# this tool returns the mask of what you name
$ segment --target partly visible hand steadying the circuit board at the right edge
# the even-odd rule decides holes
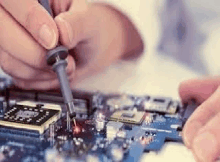
[[[220,150],[220,78],[185,81],[179,93],[183,103],[196,99],[201,105],[186,122],[183,139],[197,161],[214,162]]]

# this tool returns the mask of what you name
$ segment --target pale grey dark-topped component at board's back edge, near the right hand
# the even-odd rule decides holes
[[[150,99],[144,100],[143,107],[144,110],[150,112],[175,114],[178,104],[168,97],[151,97]]]

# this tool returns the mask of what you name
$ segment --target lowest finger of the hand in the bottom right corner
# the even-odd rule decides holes
[[[213,162],[219,157],[220,150],[220,112],[203,126],[193,140],[195,156],[204,162]]]

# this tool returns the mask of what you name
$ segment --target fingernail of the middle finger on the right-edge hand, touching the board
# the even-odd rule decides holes
[[[191,147],[192,141],[201,127],[202,124],[196,121],[192,123],[187,123],[185,125],[185,128],[183,130],[183,140],[188,148]]]

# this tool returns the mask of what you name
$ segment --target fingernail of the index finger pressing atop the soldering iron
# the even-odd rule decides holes
[[[55,46],[56,34],[53,29],[50,29],[48,25],[44,24],[39,31],[40,39],[43,45],[50,49]]]

